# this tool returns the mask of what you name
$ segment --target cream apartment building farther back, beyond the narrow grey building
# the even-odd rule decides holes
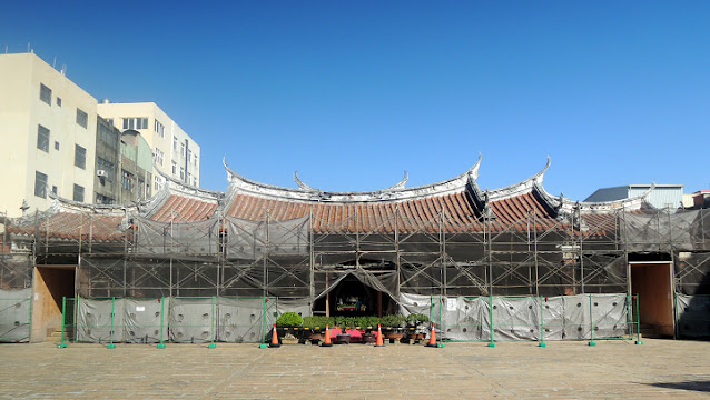
[[[140,132],[155,157],[154,193],[165,183],[156,169],[174,179],[199,187],[199,146],[154,102],[98,104],[98,114],[121,131]]]

